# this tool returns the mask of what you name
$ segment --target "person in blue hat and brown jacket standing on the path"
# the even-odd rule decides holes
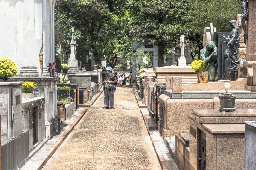
[[[116,91],[116,75],[113,73],[112,67],[107,67],[106,69],[106,77],[103,81],[104,83],[104,104],[105,107],[103,109],[114,109],[114,94]]]

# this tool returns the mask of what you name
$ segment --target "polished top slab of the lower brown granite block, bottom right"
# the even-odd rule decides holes
[[[202,124],[212,134],[244,133],[244,124]]]

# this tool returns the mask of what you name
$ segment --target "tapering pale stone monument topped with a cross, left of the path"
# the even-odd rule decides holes
[[[69,70],[79,70],[78,60],[76,60],[76,40],[74,37],[74,27],[72,27],[72,40],[70,42],[70,56],[68,60]]]

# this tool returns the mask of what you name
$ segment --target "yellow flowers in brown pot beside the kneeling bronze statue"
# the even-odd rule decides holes
[[[206,71],[208,66],[209,64],[205,67],[205,60],[202,61],[198,58],[191,63],[191,70],[195,70],[197,73],[198,83],[208,82],[208,71]]]

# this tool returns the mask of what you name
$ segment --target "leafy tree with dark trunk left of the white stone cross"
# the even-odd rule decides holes
[[[131,0],[127,2],[131,19],[127,33],[134,40],[158,46],[158,66],[164,64],[165,47],[181,34],[192,33],[187,25],[192,19],[188,0]]]

